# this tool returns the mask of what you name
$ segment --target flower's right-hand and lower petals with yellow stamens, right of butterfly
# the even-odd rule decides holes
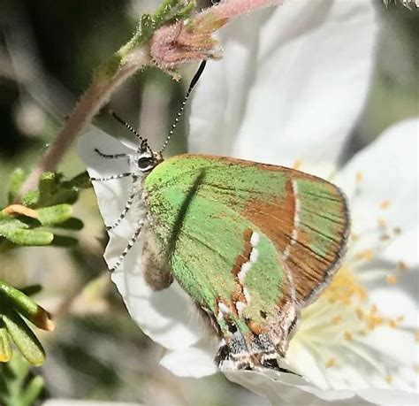
[[[418,129],[417,119],[393,126],[339,171],[353,241],[331,285],[302,311],[286,356],[307,381],[255,372],[229,379],[274,404],[322,404],[307,392],[351,404],[416,404]]]

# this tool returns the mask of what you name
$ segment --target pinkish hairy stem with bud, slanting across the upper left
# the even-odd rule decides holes
[[[141,67],[154,62],[164,70],[173,72],[179,64],[187,61],[217,58],[217,42],[211,35],[218,28],[241,14],[282,2],[225,0],[195,14],[188,24],[182,24],[182,21],[190,17],[194,7],[192,2],[164,0],[154,16],[143,15],[141,29],[94,76],[92,85],[81,96],[63,131],[22,186],[20,196],[37,188],[42,172],[56,170],[81,130],[108,102],[110,95]]]

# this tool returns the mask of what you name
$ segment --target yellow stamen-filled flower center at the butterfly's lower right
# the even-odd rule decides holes
[[[377,327],[396,328],[402,321],[402,316],[382,315],[377,305],[369,302],[368,290],[362,286],[354,269],[344,264],[316,302],[301,310],[301,328],[290,342],[288,359],[294,364],[293,360],[303,348],[309,350],[324,377],[326,371],[337,369],[338,372],[348,362],[354,362],[354,356],[369,363],[371,354],[367,355],[360,343]],[[300,362],[295,366],[309,380],[315,380],[307,374],[306,368],[301,370]],[[385,369],[378,369],[382,378],[391,383],[392,376]],[[319,387],[335,386],[329,380],[313,383]]]

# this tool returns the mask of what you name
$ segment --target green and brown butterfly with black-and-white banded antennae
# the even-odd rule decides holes
[[[344,257],[345,195],[326,180],[277,165],[194,154],[164,159],[174,126],[154,151],[116,117],[141,144],[117,154],[95,148],[128,170],[92,180],[133,182],[125,209],[108,228],[118,229],[130,210],[137,224],[110,271],[141,243],[144,280],[156,291],[179,283],[218,337],[221,370],[284,371],[280,360],[301,309],[316,300]]]

